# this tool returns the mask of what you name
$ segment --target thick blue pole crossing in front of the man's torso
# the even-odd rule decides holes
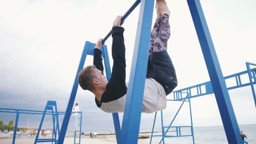
[[[141,0],[131,74],[121,129],[121,144],[138,143],[153,10],[154,0]]]

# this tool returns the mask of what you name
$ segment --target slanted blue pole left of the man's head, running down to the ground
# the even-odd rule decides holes
[[[86,42],[85,47],[83,49],[81,59],[80,59],[80,63],[79,63],[79,66],[78,66],[78,69],[77,69],[77,72],[76,72],[76,75],[75,75],[75,82],[73,84],[72,92],[71,92],[71,95],[70,95],[70,98],[69,98],[69,103],[68,103],[67,108],[66,108],[66,113],[64,115],[62,125],[61,125],[61,128],[60,128],[58,144],[63,144],[65,136],[66,136],[67,128],[68,128],[68,125],[69,125],[69,119],[70,119],[70,115],[71,115],[71,112],[72,112],[72,106],[74,104],[75,95],[76,95],[77,88],[78,88],[78,74],[84,67],[85,58],[86,58],[89,46],[90,46],[90,42]]]

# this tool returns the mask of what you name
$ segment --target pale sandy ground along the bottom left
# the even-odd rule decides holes
[[[0,144],[12,144],[12,139],[6,138],[6,139],[0,139]],[[34,139],[31,138],[17,138],[15,140],[15,144],[33,144]],[[139,139],[138,144],[148,144],[148,141]],[[44,144],[51,144],[46,143]],[[64,144],[74,144],[74,138],[67,137],[64,140]],[[116,144],[115,138],[81,138],[81,144]]]

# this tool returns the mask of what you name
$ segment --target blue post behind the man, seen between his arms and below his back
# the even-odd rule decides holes
[[[110,62],[109,62],[109,57],[108,57],[108,49],[107,46],[103,46],[103,51],[104,51],[104,65],[105,65],[105,72],[106,72],[106,77],[109,81],[111,78],[111,68],[110,68]],[[119,142],[119,138],[121,135],[121,127],[120,127],[120,121],[118,117],[118,113],[112,113],[113,121],[114,121],[114,127],[115,127],[115,137],[117,143]]]

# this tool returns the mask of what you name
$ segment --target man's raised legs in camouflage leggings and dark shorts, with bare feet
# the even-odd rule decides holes
[[[169,15],[170,11],[164,0],[159,0],[159,8],[162,14],[160,31],[154,40],[150,65],[152,70],[148,72],[147,78],[153,78],[159,82],[165,90],[166,95],[170,94],[177,86],[177,77],[171,58],[167,53],[167,41],[170,37]]]

